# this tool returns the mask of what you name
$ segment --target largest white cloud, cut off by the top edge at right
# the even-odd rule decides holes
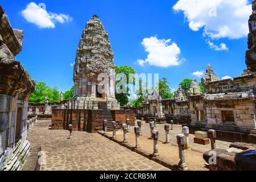
[[[182,11],[189,22],[189,28],[212,39],[239,39],[247,36],[247,20],[251,5],[247,0],[179,0],[173,7]]]

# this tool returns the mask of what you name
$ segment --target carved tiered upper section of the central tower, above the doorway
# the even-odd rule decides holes
[[[85,69],[84,69],[85,68]],[[114,53],[110,45],[108,32],[101,20],[94,15],[86,24],[77,48],[74,66],[74,81],[86,73],[89,80],[94,80],[98,74],[114,69]]]

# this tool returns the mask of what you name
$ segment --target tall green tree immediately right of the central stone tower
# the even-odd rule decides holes
[[[126,84],[126,89],[127,89],[127,92],[126,93],[116,93],[115,94],[115,98],[117,99],[117,101],[120,103],[121,106],[125,106],[127,105],[127,103],[129,102],[129,96],[130,96],[130,93],[129,93],[129,84],[135,84],[135,82],[129,82],[129,74],[135,74],[135,70],[132,68],[132,67],[127,67],[127,66],[121,66],[121,67],[118,67],[116,66],[115,67],[115,73],[117,74],[125,74],[126,75],[126,78],[127,78],[127,84]],[[119,78],[115,81],[115,84],[118,84],[119,82],[121,82],[122,80]],[[117,90],[118,89],[122,89],[122,88],[116,88]]]

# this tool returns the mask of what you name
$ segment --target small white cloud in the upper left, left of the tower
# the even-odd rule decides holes
[[[28,3],[22,11],[22,16],[27,22],[36,24],[39,28],[55,28],[55,23],[66,23],[72,21],[69,15],[56,14],[42,9],[35,2]]]

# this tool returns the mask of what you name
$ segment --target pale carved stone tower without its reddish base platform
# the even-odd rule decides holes
[[[99,109],[106,102],[108,109],[119,109],[115,100],[114,53],[98,16],[86,24],[77,48],[73,80],[76,84],[75,109]]]

